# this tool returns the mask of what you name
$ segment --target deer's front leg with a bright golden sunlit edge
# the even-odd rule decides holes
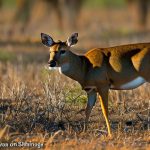
[[[108,89],[105,89],[105,90],[103,89],[99,91],[99,99],[100,99],[100,105],[102,108],[102,113],[106,121],[108,135],[111,137],[110,123],[108,120]]]

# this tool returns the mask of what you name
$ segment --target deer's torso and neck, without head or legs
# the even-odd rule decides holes
[[[145,46],[150,47],[150,44],[124,45],[105,49],[97,48],[87,52],[84,56],[79,56],[69,51],[71,60],[60,66],[61,72],[78,81],[83,88],[103,86],[104,84],[110,86],[110,89],[133,89],[146,82],[148,78],[143,75],[143,70],[140,71],[140,68],[144,67],[140,64],[145,60],[144,57],[148,55],[150,60],[150,49],[144,48]],[[101,58],[103,61],[100,60],[101,64],[94,62],[96,58],[94,58],[95,54],[93,53],[96,51],[97,55],[103,56]],[[150,67],[145,68],[145,71],[149,74]],[[130,83],[132,84],[130,85]],[[127,84],[128,86],[125,86]]]

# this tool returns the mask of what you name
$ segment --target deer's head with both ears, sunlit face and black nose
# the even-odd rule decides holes
[[[55,42],[53,38],[45,33],[41,33],[42,43],[49,47],[49,67],[60,67],[69,62],[70,47],[78,42],[78,33],[73,33],[65,42]]]

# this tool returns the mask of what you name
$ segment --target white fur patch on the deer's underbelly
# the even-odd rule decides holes
[[[123,85],[121,85],[119,87],[119,89],[122,89],[122,90],[128,90],[128,89],[134,89],[140,85],[142,85],[143,83],[145,83],[145,79],[142,78],[142,77],[137,77],[135,78],[134,80],[130,81],[130,82],[127,82]],[[111,88],[115,88],[113,85],[111,86]]]

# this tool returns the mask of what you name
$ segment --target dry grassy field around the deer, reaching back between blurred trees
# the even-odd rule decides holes
[[[5,1],[5,6],[14,7],[14,1]],[[123,0],[88,0],[78,19],[79,43],[74,52],[150,42],[150,21],[147,30],[138,32],[136,18],[123,6]],[[17,23],[10,37],[13,12],[7,8],[0,13],[0,149],[149,150],[150,85],[110,91],[112,138],[107,136],[99,100],[83,132],[87,95],[77,82],[47,69],[49,52],[39,43],[41,32],[66,40],[74,31],[58,30],[51,11],[37,21],[35,10],[25,32],[19,32]]]

